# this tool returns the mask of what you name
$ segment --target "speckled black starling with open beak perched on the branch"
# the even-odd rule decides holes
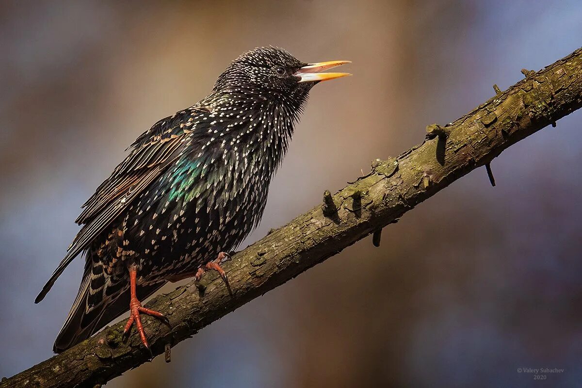
[[[135,325],[149,349],[141,315],[168,321],[141,301],[167,282],[217,270],[230,291],[221,265],[260,222],[311,88],[351,75],[325,72],[346,63],[305,63],[282,48],[252,49],[230,63],[207,97],[137,137],[81,207],[81,229],[35,300],[84,255],[54,352],[128,309],[124,334]]]

